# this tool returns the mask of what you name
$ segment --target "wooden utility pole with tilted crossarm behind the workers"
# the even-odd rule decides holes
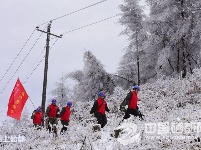
[[[46,39],[46,54],[45,54],[45,68],[44,68],[44,79],[43,79],[43,92],[42,92],[42,111],[43,111],[43,118],[45,114],[45,103],[46,103],[46,88],[47,88],[47,72],[48,72],[48,57],[49,57],[49,42],[50,42],[50,35],[55,36],[57,38],[62,38],[62,35],[58,36],[55,34],[50,33],[50,28],[51,28],[51,21],[48,24],[47,27],[47,32],[40,30],[39,27],[36,27],[36,29],[40,32],[46,33],[47,34],[47,39]],[[44,122],[43,122],[44,125]]]

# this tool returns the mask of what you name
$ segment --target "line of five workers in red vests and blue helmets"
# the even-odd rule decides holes
[[[127,110],[125,111],[125,115],[123,119],[128,119],[130,115],[139,116],[142,119],[142,114],[138,111],[138,92],[140,91],[140,87],[135,85],[133,89],[127,94],[125,98],[126,105],[128,105]],[[107,124],[106,111],[109,112],[109,108],[107,106],[107,102],[105,100],[105,93],[103,91],[99,92],[98,99],[94,102],[93,107],[90,110],[90,114],[94,114],[97,118],[98,124],[100,124],[101,128],[103,128]],[[72,102],[68,101],[66,106],[62,108],[60,111],[59,107],[56,105],[56,99],[52,99],[52,103],[47,107],[45,112],[45,125],[46,129],[51,132],[56,128],[58,124],[58,118],[60,118],[61,124],[63,127],[61,128],[60,134],[63,134],[67,131],[67,126],[70,121],[70,114]],[[42,126],[43,122],[43,112],[41,107],[39,106],[32,113],[33,124],[34,126]]]

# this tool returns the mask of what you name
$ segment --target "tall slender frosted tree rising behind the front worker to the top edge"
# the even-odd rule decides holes
[[[147,38],[144,26],[146,17],[142,7],[139,5],[140,0],[124,0],[124,2],[123,5],[119,6],[122,11],[122,17],[119,22],[126,27],[121,34],[128,36],[129,46],[120,63],[118,73],[124,77],[132,77],[132,80],[139,84],[140,72],[142,71],[140,64],[141,55],[143,54],[142,47]]]

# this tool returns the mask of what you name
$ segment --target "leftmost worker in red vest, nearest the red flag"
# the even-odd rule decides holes
[[[41,111],[41,107],[39,106],[34,112],[32,113],[31,119],[33,119],[33,124],[35,127],[42,125],[42,117],[43,112]]]

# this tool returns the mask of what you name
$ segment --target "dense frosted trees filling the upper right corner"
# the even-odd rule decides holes
[[[148,23],[149,47],[157,56],[156,72],[165,75],[187,72],[200,66],[199,0],[147,0],[150,6]]]

